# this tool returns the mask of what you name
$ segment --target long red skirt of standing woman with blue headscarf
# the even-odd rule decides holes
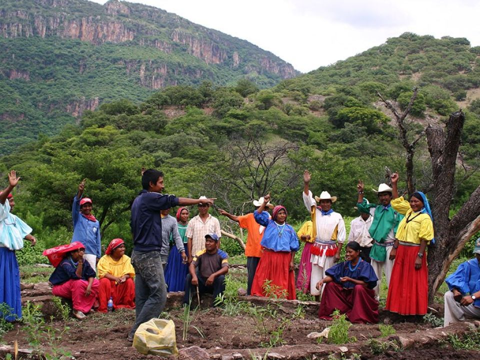
[[[401,315],[424,315],[428,304],[428,268],[423,252],[421,267],[415,269],[419,246],[398,245],[391,270],[385,309]]]

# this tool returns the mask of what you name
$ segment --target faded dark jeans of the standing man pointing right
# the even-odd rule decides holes
[[[166,302],[160,251],[133,250],[131,264],[135,269],[135,324],[129,337],[133,337],[141,323],[158,317]]]

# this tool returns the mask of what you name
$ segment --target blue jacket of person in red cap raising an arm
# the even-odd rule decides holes
[[[85,245],[85,253],[101,257],[100,223],[90,221],[80,213],[80,199],[73,197],[71,218],[73,220],[73,237],[70,242],[80,241]]]

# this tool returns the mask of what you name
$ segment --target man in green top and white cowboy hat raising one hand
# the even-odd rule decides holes
[[[398,223],[403,215],[396,212],[390,205],[392,199],[392,188],[386,183],[378,185],[378,189],[372,189],[378,196],[379,205],[367,204],[363,198],[364,185],[362,180],[358,180],[356,185],[358,192],[357,204],[359,211],[369,211],[372,221],[368,233],[372,238],[370,248],[370,264],[378,277],[375,291],[375,297],[378,300],[381,283],[381,273],[385,273],[386,286],[390,284],[390,275],[393,268],[394,256],[390,256],[391,250],[395,247],[395,233]]]

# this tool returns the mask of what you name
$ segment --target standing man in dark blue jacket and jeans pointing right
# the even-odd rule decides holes
[[[133,340],[138,326],[158,317],[166,302],[166,285],[161,266],[161,217],[160,210],[177,205],[212,204],[210,199],[191,199],[163,195],[163,173],[155,169],[145,170],[141,176],[143,190],[131,205],[131,232],[133,251],[131,264],[135,268],[135,324],[128,334]]]

